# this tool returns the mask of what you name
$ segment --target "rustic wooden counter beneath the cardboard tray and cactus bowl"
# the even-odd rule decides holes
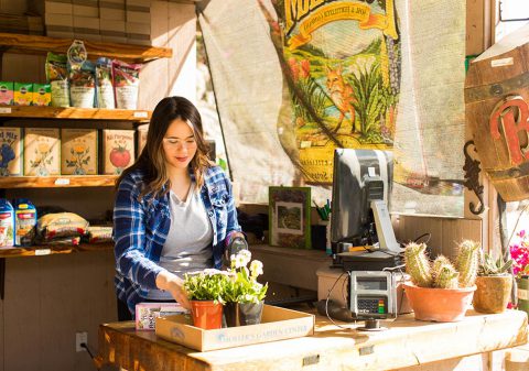
[[[359,332],[358,325],[316,316],[315,335],[255,346],[198,352],[136,331],[133,323],[99,328],[99,360],[128,370],[395,370],[442,362],[527,343],[527,315],[468,310],[461,323],[423,323],[412,315],[385,324],[389,330]],[[431,363],[435,365],[436,363]],[[444,369],[447,370],[447,369]]]

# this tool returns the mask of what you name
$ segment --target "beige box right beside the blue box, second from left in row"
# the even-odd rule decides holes
[[[26,128],[24,133],[24,175],[48,176],[61,174],[58,129]]]

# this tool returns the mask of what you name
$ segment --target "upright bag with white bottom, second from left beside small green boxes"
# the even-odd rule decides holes
[[[96,67],[90,61],[78,66],[68,64],[69,101],[73,107],[94,108],[96,97]]]

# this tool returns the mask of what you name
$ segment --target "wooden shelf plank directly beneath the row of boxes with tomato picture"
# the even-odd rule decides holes
[[[114,187],[117,175],[4,176],[0,188]]]

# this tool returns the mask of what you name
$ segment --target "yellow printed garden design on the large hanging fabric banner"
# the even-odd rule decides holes
[[[261,6],[284,78],[278,130],[306,182],[333,181],[336,148],[390,150],[400,90],[393,0]],[[287,99],[284,99],[287,98]]]

